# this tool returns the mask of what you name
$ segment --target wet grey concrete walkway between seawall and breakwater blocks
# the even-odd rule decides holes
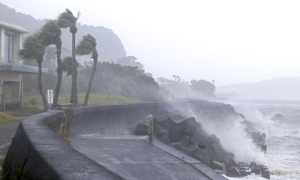
[[[181,152],[179,157],[167,153],[145,136],[81,135],[71,140],[71,146],[124,179],[212,179],[194,167],[203,166],[202,162],[189,163]]]

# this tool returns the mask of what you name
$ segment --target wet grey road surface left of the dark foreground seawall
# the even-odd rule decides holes
[[[2,163],[21,120],[0,122],[0,179]]]

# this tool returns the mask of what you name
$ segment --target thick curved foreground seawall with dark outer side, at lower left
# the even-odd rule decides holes
[[[3,164],[3,179],[123,179],[53,133],[48,126],[57,129],[63,117],[63,111],[51,111],[20,123]]]

